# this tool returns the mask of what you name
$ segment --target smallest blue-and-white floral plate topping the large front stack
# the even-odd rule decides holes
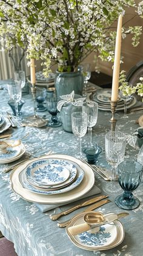
[[[40,164],[32,170],[32,179],[40,185],[56,185],[66,181],[70,176],[68,169],[59,164]]]

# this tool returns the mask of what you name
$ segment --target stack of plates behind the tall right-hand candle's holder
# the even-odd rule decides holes
[[[103,111],[110,111],[110,97],[111,97],[111,89],[99,89],[93,94],[93,100],[98,103],[98,108]],[[131,97],[130,100],[127,101],[127,109],[131,108],[136,104],[136,97]],[[124,110],[124,99],[120,97],[118,100],[118,104],[116,106],[116,110]]]

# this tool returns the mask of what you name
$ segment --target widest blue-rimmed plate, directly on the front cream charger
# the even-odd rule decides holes
[[[57,159],[55,159],[55,160],[57,160]],[[62,159],[62,161],[63,160],[64,159]],[[45,161],[45,159],[44,159],[44,161]],[[68,162],[68,161],[66,160],[66,162]],[[84,178],[84,170],[82,170],[82,168],[79,167],[79,165],[77,165],[71,161],[70,161],[70,163],[75,165],[75,167],[77,169],[77,176],[76,176],[76,179],[71,184],[69,184],[67,187],[59,188],[56,190],[46,190],[46,189],[44,190],[44,189],[40,189],[38,187],[37,188],[33,187],[33,185],[31,185],[27,182],[25,170],[22,170],[19,173],[19,182],[21,183],[21,185],[24,189],[27,189],[33,193],[38,193],[38,194],[42,194],[42,195],[56,195],[56,194],[68,192],[68,191],[73,190],[76,187],[78,187],[78,185],[81,183],[82,179]]]

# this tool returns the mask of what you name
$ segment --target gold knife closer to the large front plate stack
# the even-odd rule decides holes
[[[53,220],[53,221],[55,221],[55,220],[57,220],[59,217],[61,217],[62,215],[67,215],[68,213],[73,212],[73,211],[76,210],[76,209],[79,209],[79,208],[84,207],[84,206],[88,206],[89,204],[93,204],[93,202],[98,202],[98,201],[100,201],[100,200],[102,200],[102,199],[104,199],[104,198],[107,198],[107,197],[108,197],[108,196],[104,196],[104,195],[102,195],[102,196],[96,196],[96,198],[92,198],[92,199],[89,199],[89,200],[87,200],[87,201],[85,201],[85,202],[82,202],[81,204],[78,204],[78,205],[76,205],[76,206],[73,206],[73,207],[71,207],[70,209],[65,210],[64,212],[60,212],[60,213],[57,213],[57,214],[51,214],[51,215],[50,215],[50,219]]]

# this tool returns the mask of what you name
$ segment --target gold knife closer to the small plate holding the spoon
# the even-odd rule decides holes
[[[110,199],[104,199],[100,202],[96,202],[95,204],[92,204],[90,207],[87,207],[83,212],[90,212],[91,210],[94,210],[100,206],[103,206],[104,204],[107,204],[108,202],[111,202]],[[71,219],[70,219],[71,220]],[[59,222],[57,225],[58,227],[66,227],[67,224],[70,222],[70,220],[64,221],[64,222]]]

